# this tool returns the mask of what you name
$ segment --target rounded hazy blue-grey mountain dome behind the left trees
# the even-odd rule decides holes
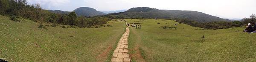
[[[74,10],[78,16],[98,16],[98,15],[105,15],[106,13],[96,11],[94,8],[89,7],[80,7]]]

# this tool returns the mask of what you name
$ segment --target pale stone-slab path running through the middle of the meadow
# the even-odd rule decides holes
[[[118,45],[113,53],[113,58],[111,62],[130,62],[129,54],[128,54],[128,36],[129,36],[129,28],[126,27],[126,32],[120,38]]]

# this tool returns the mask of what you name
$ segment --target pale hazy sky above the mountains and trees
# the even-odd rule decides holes
[[[256,0],[28,0],[50,10],[73,11],[90,7],[97,11],[116,11],[135,7],[199,11],[228,19],[242,19],[256,14]]]

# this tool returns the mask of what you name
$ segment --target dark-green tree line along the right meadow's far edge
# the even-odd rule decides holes
[[[172,19],[176,22],[189,24],[194,27],[201,27],[204,29],[226,29],[232,27],[245,27],[248,23],[256,23],[256,15],[252,14],[250,18],[244,18],[241,21],[218,21],[218,22],[196,22],[189,19]]]

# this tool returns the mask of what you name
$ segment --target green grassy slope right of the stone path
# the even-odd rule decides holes
[[[166,24],[161,20],[157,20],[161,24],[148,19],[144,22],[140,19],[126,20],[142,23],[142,29],[130,28],[129,49],[131,51],[129,53],[135,54],[136,51],[133,49],[141,48],[142,57],[147,62],[256,61],[256,34],[242,32],[241,27],[194,30],[201,28],[171,20],[168,20],[171,24]],[[174,26],[173,24],[178,24],[177,30],[159,28],[160,26]],[[203,35],[204,39],[201,38]],[[136,61],[136,58],[133,57],[132,60]]]

